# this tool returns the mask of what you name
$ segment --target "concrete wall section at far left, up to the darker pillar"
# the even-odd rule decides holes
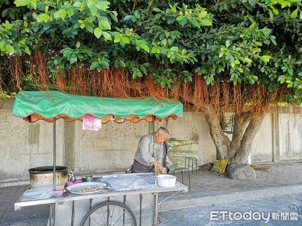
[[[13,100],[0,102],[0,186],[29,179],[28,170],[53,165],[52,124],[29,124],[12,115]],[[57,165],[63,165],[63,121],[57,125]]]

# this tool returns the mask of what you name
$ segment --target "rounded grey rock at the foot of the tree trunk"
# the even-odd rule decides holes
[[[256,179],[256,172],[252,167],[243,165],[229,165],[226,175],[234,180]]]

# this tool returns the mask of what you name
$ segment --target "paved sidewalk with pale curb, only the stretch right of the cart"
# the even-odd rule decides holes
[[[213,174],[207,169],[190,174],[191,192],[179,193],[159,206],[159,211],[181,209],[205,204],[236,201],[272,195],[302,193],[302,163],[274,164],[268,170],[256,170],[253,180],[232,180],[224,175]],[[176,174],[181,182],[181,174]],[[188,174],[184,174],[188,186]],[[172,192],[160,193],[159,203]]]

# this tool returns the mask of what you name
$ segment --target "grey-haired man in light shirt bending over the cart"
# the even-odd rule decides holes
[[[154,172],[154,166],[157,166],[157,175],[167,174],[165,168],[165,156],[163,143],[167,140],[169,131],[161,127],[155,133],[155,145],[153,133],[143,136],[138,143],[138,148],[134,156],[132,173]],[[156,161],[154,159],[154,148],[157,152]]]

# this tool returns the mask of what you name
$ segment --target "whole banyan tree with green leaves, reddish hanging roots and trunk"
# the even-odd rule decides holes
[[[247,165],[264,115],[302,103],[302,3],[0,0],[0,91],[174,98]],[[232,140],[223,133],[233,112]]]

